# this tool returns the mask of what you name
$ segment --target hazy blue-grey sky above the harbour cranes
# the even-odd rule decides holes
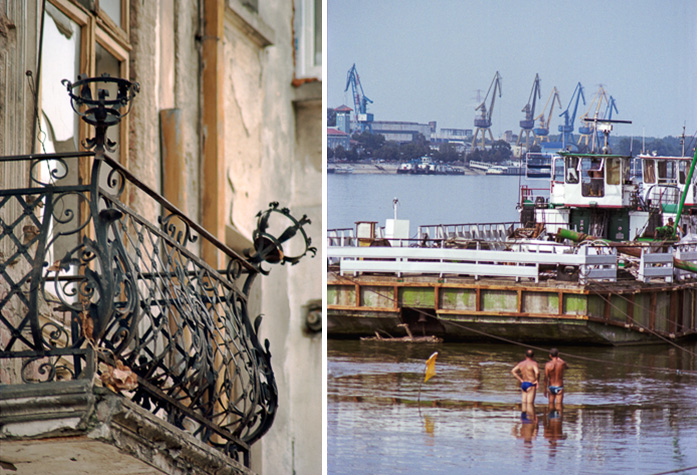
[[[327,0],[328,107],[353,108],[344,91],[355,63],[375,120],[474,128],[496,71],[491,131],[520,131],[535,74],[542,98],[556,86],[557,133],[580,82],[586,106],[600,84],[618,112],[615,135],[697,132],[697,0]],[[491,97],[487,100],[487,106]],[[573,105],[572,105],[573,108]]]

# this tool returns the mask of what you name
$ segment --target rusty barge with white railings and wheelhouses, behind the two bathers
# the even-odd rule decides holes
[[[697,336],[697,152],[640,155],[637,179],[632,157],[608,147],[626,121],[596,122],[604,145],[553,156],[548,187],[521,187],[519,223],[420,226],[412,240],[394,232],[405,229],[396,216],[382,232],[358,223],[372,234],[358,239],[329,231],[328,336],[400,336],[403,325],[445,341]]]

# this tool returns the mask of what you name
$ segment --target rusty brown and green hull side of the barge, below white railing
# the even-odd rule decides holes
[[[623,345],[697,337],[697,283],[386,275],[327,278],[329,338],[434,335],[445,341]]]

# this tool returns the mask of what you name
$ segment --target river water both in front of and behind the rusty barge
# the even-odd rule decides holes
[[[516,176],[329,175],[327,227],[515,221]],[[545,187],[543,181],[531,181]],[[523,421],[510,374],[524,348],[329,340],[327,471],[697,474],[697,343],[560,347],[561,417],[540,391]],[[439,352],[437,374],[422,384]],[[547,360],[538,351],[540,364]],[[421,394],[419,395],[419,388]],[[418,400],[420,398],[420,404]],[[556,416],[556,415],[555,415]]]

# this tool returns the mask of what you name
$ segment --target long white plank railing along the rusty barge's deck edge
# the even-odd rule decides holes
[[[341,275],[350,272],[512,277],[539,282],[540,266],[572,266],[579,269],[581,283],[617,280],[617,251],[585,248],[580,254],[555,252],[492,251],[476,249],[328,247],[327,257],[339,261]]]

